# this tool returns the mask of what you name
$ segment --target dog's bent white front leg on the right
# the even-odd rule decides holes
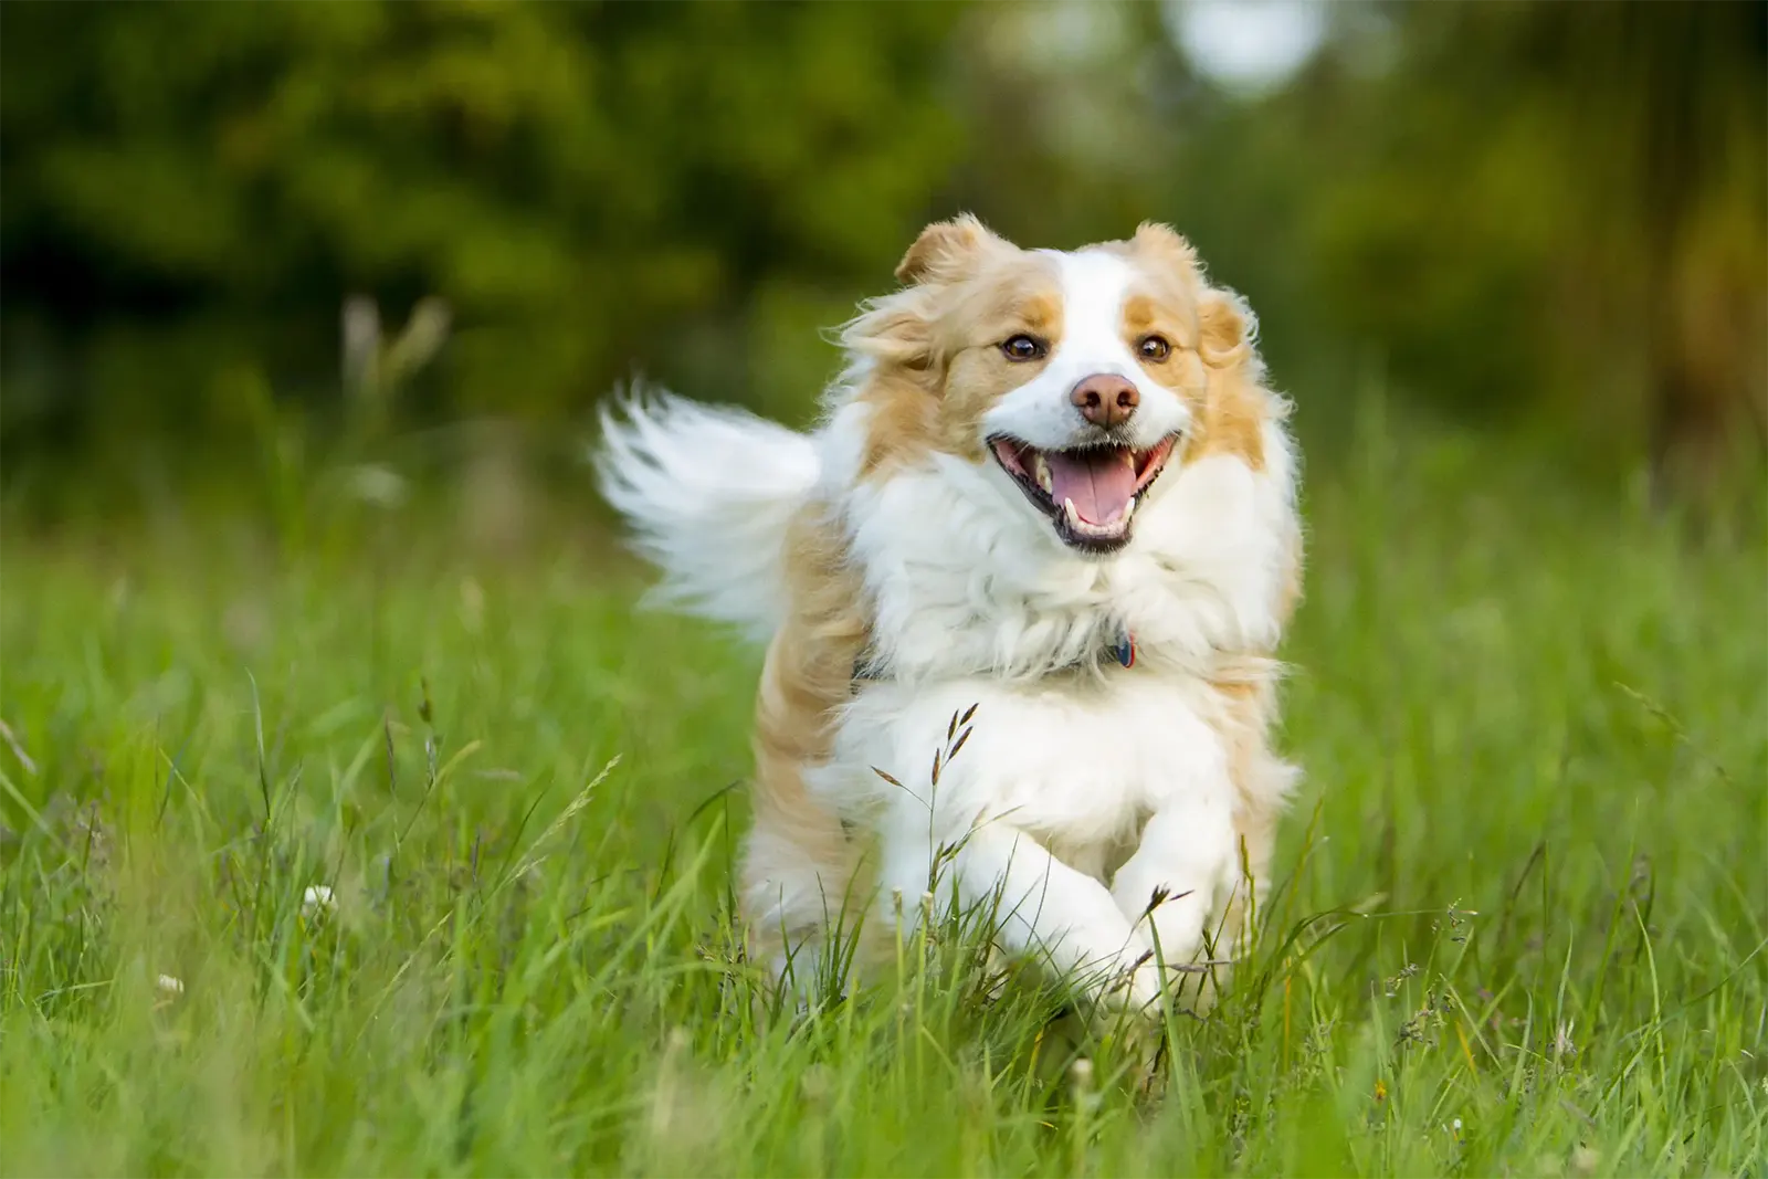
[[[1229,801],[1197,794],[1169,801],[1147,820],[1142,843],[1112,879],[1124,919],[1149,930],[1169,965],[1192,962],[1204,946],[1216,882],[1234,852]]]

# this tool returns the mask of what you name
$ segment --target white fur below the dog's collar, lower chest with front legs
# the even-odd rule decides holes
[[[1169,960],[1193,956],[1234,887],[1234,785],[1199,691],[1142,668],[872,682],[806,781],[877,834],[886,907],[955,886],[1010,946],[1132,979],[1147,1000],[1155,937]],[[946,755],[955,719],[969,737]]]

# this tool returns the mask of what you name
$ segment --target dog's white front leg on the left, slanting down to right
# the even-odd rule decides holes
[[[944,850],[926,845],[925,825],[919,840],[905,836],[886,845],[888,893],[907,901],[930,884],[935,894],[956,884],[965,914],[987,916],[1010,955],[1040,958],[1059,974],[1096,985],[1101,997],[1133,1006],[1158,997],[1158,979],[1146,969],[1151,946],[1110,891],[1025,831],[981,820]],[[935,871],[935,857],[949,866],[949,877]],[[919,916],[914,909],[911,919]]]

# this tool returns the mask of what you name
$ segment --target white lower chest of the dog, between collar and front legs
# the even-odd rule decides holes
[[[1231,806],[1227,755],[1200,693],[1140,668],[1031,684],[868,684],[842,719],[831,769],[872,795],[850,804],[919,810],[948,831],[999,820],[1050,845],[1103,848],[1133,840],[1176,795],[1218,794]]]

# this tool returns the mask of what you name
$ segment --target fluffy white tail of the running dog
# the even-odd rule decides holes
[[[771,636],[785,610],[785,536],[820,472],[815,444],[670,392],[622,398],[601,428],[601,493],[663,571],[656,599]]]

